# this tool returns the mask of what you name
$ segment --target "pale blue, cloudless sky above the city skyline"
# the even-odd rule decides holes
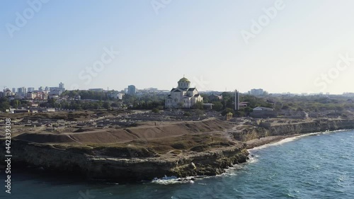
[[[352,0],[0,1],[0,88],[354,92]],[[353,57],[353,58],[352,58]]]

